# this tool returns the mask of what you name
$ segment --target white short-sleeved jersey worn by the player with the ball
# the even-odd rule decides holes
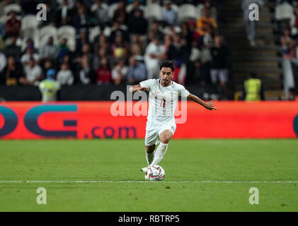
[[[149,90],[149,109],[147,121],[153,124],[175,124],[175,109],[178,96],[188,97],[189,92],[183,85],[171,81],[166,87],[160,79],[148,79],[139,83]]]

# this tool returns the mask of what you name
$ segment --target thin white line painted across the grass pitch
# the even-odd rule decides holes
[[[0,181],[0,184],[32,184],[32,183],[53,183],[53,184],[88,184],[88,183],[150,183],[149,181]],[[298,181],[272,181],[272,182],[229,182],[229,181],[161,181],[159,183],[222,183],[222,184],[297,184]]]

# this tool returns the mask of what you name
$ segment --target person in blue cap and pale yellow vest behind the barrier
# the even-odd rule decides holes
[[[38,87],[42,94],[42,102],[56,101],[59,99],[58,91],[60,90],[59,82],[55,81],[54,69],[47,70],[47,78],[40,81]]]

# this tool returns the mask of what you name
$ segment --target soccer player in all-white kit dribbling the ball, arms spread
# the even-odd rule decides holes
[[[206,109],[217,109],[212,101],[204,102],[199,97],[190,94],[183,85],[173,82],[174,70],[175,66],[171,61],[163,61],[159,67],[159,79],[148,79],[130,88],[132,93],[142,90],[149,91],[145,136],[148,166],[141,169],[145,174],[145,179],[148,179],[148,168],[152,165],[159,165],[163,159],[168,148],[168,142],[176,131],[174,113],[178,96],[187,97],[188,100],[193,100]],[[159,147],[155,150],[159,141]]]

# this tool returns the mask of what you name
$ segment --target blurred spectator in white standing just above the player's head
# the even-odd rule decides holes
[[[166,58],[166,49],[160,43],[159,37],[154,37],[146,48],[144,61],[147,67],[148,78],[158,78],[159,63]]]

